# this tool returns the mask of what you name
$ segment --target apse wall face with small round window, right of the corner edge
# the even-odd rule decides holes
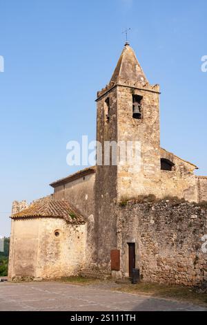
[[[78,274],[86,261],[85,227],[70,225],[63,219],[39,220],[37,277]]]

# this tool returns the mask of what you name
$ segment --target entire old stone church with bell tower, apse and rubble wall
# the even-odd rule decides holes
[[[159,85],[126,42],[97,93],[97,141],[138,142],[139,163],[97,164],[12,206],[10,279],[88,275],[192,286],[207,279],[207,177],[160,147]],[[205,247],[204,247],[205,246]]]

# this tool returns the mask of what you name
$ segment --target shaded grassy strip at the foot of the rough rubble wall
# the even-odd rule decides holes
[[[192,304],[207,306],[207,293],[197,293],[195,288],[184,286],[167,286],[165,284],[143,282],[140,284],[126,284],[117,288],[117,290],[124,293],[148,295],[151,297],[186,301]]]

